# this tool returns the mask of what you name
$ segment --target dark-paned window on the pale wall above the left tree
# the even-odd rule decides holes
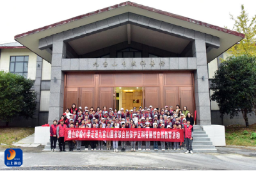
[[[28,56],[11,56],[10,72],[28,77]]]

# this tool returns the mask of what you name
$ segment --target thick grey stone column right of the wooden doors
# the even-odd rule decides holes
[[[196,33],[193,41],[193,57],[196,57],[197,69],[195,77],[196,124],[211,124],[211,107],[209,95],[209,82],[207,70],[207,54],[205,47],[205,34]]]

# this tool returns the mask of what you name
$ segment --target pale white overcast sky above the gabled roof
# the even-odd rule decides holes
[[[0,43],[14,41],[14,36],[39,27],[47,26],[61,20],[70,19],[91,11],[122,3],[125,0],[111,1],[78,1],[78,0],[44,0],[44,1],[1,1]],[[250,17],[256,14],[255,0],[133,0],[143,4],[168,11],[191,19],[200,20],[216,26],[228,26],[232,29],[234,22],[229,13],[237,16],[241,4]]]

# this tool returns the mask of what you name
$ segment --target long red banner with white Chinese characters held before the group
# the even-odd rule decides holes
[[[66,128],[68,140],[183,142],[184,130],[152,128]]]

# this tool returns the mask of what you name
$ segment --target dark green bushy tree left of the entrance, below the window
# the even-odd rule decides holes
[[[34,81],[20,75],[0,71],[0,120],[8,123],[14,117],[33,118],[36,94],[31,91]]]

